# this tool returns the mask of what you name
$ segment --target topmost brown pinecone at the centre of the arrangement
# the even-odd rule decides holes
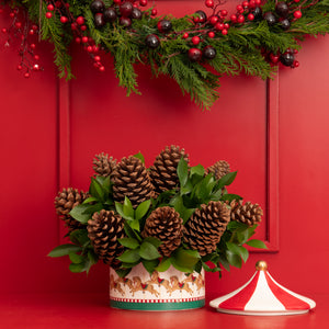
[[[189,162],[189,155],[185,150],[171,145],[167,146],[156,158],[154,166],[150,167],[150,178],[157,193],[172,190],[179,184],[177,167],[182,157]]]

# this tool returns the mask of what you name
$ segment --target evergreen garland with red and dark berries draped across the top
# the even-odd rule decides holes
[[[135,4],[137,1],[131,0]],[[104,67],[99,49],[114,57],[118,84],[126,89],[127,94],[139,93],[135,65],[143,64],[150,66],[154,76],[164,75],[175,80],[183,94],[189,93],[201,109],[206,110],[209,110],[219,97],[222,76],[246,73],[261,79],[273,78],[280,60],[286,66],[298,65],[294,60],[294,52],[300,48],[300,42],[306,35],[316,37],[329,32],[329,0],[281,1],[288,7],[287,29],[282,27],[284,16],[275,13],[275,7],[280,2],[277,0],[243,1],[240,9],[237,8],[236,15],[243,16],[242,21],[238,19],[238,22],[232,16],[223,14],[220,0],[205,1],[209,7],[209,16],[204,22],[201,11],[181,19],[172,15],[157,18],[154,8],[149,8],[141,11],[140,19],[132,19],[131,26],[121,24],[124,15],[121,14],[120,7],[128,0],[99,1],[104,3],[104,8],[113,8],[117,14],[113,22],[103,26],[95,22],[95,13],[91,10],[92,2],[94,1],[12,0],[2,1],[2,4],[10,5],[14,12],[9,31],[15,26],[16,15],[22,9],[23,12],[27,12],[30,19],[24,31],[32,24],[41,25],[37,33],[41,39],[54,44],[55,64],[60,78],[73,77],[68,48],[72,42],[80,42],[100,70],[104,70]],[[260,9],[261,15],[256,15],[256,8]],[[265,19],[268,12],[274,14],[276,23],[272,24]],[[212,15],[217,15],[219,23],[229,25],[225,33],[211,22]],[[66,21],[61,21],[63,16]],[[167,33],[158,27],[163,20],[172,25]],[[15,29],[23,31],[21,26]],[[25,35],[24,42],[27,43],[27,34]],[[146,37],[149,35],[152,35],[154,42],[157,43],[158,39],[158,46],[147,45]],[[200,37],[201,42],[193,44],[195,36]],[[204,54],[206,46],[215,50],[214,58],[203,56],[195,59],[196,57],[189,56],[191,48],[201,49]],[[31,61],[24,63],[27,53],[33,55],[29,47],[26,49],[26,45],[24,49],[20,53],[21,67],[25,66],[25,76],[29,77],[30,71],[37,70],[38,66],[32,66]],[[282,58],[285,54],[287,58]]]

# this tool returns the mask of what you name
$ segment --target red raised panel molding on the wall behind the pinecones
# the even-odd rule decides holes
[[[279,73],[266,81],[266,168],[265,168],[265,239],[268,249],[251,252],[279,251]],[[58,80],[58,188],[70,185],[70,83]],[[59,240],[66,234],[60,225]]]

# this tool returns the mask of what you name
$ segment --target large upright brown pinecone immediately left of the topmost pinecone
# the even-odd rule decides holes
[[[124,202],[127,196],[133,206],[154,196],[154,185],[145,164],[133,156],[123,158],[115,167],[112,174],[113,197]]]

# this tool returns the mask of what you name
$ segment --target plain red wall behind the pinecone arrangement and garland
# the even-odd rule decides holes
[[[161,1],[158,7],[180,14],[188,7],[190,12],[200,9],[200,3]],[[3,24],[0,16],[0,27]],[[226,159],[238,170],[231,191],[259,202],[268,214],[260,238],[266,239],[268,220],[276,220],[269,218],[271,207],[280,213],[279,252],[253,253],[242,270],[232,270],[222,281],[208,275],[208,296],[245,283],[259,259],[268,260],[271,274],[293,291],[328,293],[328,38],[307,39],[298,55],[300,67],[282,69],[272,84],[274,91],[279,88],[279,139],[270,140],[279,156],[277,185],[275,177],[266,177],[268,106],[273,100],[266,99],[264,81],[223,78],[220,99],[211,112],[201,112],[172,81],[151,79],[147,68],[138,68],[143,95],[126,98],[111,59],[105,73],[97,72],[79,48],[73,49],[78,79],[67,90],[56,79],[50,49],[42,52],[45,71],[31,79],[15,70],[14,49],[0,52],[0,292],[106,292],[104,265],[87,279],[70,273],[66,260],[46,257],[61,234],[54,196],[68,184],[87,190],[92,157],[100,151],[120,159],[140,150],[150,164],[166,145],[177,144],[185,147],[192,164]],[[277,204],[268,200],[273,184],[279,188]]]

